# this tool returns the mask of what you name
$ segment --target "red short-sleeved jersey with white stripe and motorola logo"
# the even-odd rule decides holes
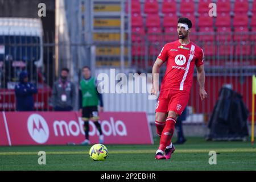
[[[164,45],[158,58],[163,62],[167,61],[161,90],[187,90],[190,92],[194,67],[204,64],[203,49],[192,42],[182,45],[179,40],[176,40]]]

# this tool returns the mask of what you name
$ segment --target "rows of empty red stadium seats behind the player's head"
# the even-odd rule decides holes
[[[155,56],[158,55],[164,43],[177,39],[176,23],[180,17],[188,17],[192,20],[191,40],[204,48],[205,56],[250,55],[253,51],[246,46],[246,41],[256,39],[253,34],[256,31],[254,16],[256,1],[141,0],[132,2],[132,8],[135,9],[132,12],[137,12],[132,14],[132,32],[145,36],[146,39],[143,41],[147,40],[150,43],[145,49],[148,50],[146,52],[148,55],[154,55],[154,52]],[[217,17],[208,15],[208,6],[211,2],[217,4]],[[141,13],[138,13],[138,9]],[[132,39],[136,42],[142,41],[134,35]]]

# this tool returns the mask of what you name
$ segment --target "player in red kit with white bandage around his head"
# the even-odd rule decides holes
[[[170,159],[175,151],[171,142],[177,117],[188,103],[193,81],[193,71],[197,67],[199,94],[203,101],[207,98],[204,89],[204,52],[189,40],[192,22],[188,18],[180,18],[177,22],[178,40],[167,43],[162,48],[152,68],[153,82],[151,94],[158,95],[159,68],[167,62],[166,73],[160,87],[156,106],[155,125],[160,137],[160,144],[155,159]]]

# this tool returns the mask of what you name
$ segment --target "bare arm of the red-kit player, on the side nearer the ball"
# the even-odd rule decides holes
[[[151,89],[151,94],[154,94],[155,96],[158,95],[159,92],[159,69],[162,66],[164,62],[157,58],[153,68],[152,68],[152,89]]]

